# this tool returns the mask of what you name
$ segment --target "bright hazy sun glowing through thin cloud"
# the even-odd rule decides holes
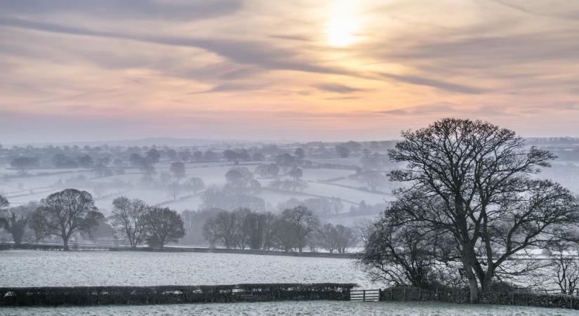
[[[326,22],[325,33],[328,44],[345,47],[357,41],[359,20],[354,14],[355,1],[336,1]]]

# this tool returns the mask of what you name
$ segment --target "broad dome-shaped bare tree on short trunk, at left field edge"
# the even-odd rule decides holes
[[[62,238],[65,250],[75,232],[90,234],[98,225],[102,213],[98,212],[93,196],[86,191],[66,189],[41,200],[30,220],[30,226],[40,235]]]

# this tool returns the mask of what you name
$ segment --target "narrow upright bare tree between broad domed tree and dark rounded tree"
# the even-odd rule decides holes
[[[145,215],[147,211],[149,211],[149,206],[140,199],[117,197],[112,200],[111,223],[121,231],[132,248],[140,244],[146,236]]]

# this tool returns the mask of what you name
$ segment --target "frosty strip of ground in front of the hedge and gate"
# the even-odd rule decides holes
[[[0,308],[0,315],[470,315],[566,316],[576,310],[430,302],[285,301],[182,305]]]

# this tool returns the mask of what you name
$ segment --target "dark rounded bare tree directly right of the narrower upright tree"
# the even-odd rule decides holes
[[[161,249],[168,242],[178,242],[185,236],[183,221],[176,211],[168,207],[153,207],[145,214],[147,223],[147,240],[149,244]]]

